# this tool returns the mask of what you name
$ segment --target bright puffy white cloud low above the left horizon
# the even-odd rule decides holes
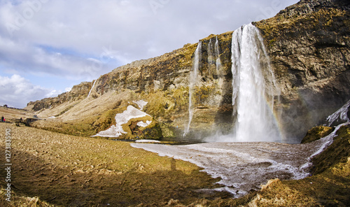
[[[13,75],[11,77],[0,76],[0,105],[7,104],[23,108],[29,101],[43,99],[44,97],[56,97],[62,92],[49,90],[30,83],[29,80]]]

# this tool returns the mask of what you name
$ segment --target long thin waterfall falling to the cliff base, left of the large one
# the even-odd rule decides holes
[[[195,110],[193,106],[193,90],[198,85],[198,82],[200,81],[200,60],[202,59],[202,42],[200,41],[197,45],[197,48],[195,50],[195,60],[193,62],[193,69],[190,72],[190,84],[189,84],[189,103],[188,103],[188,124],[185,129],[185,132],[183,133],[183,136],[186,136],[188,131],[190,131],[190,124],[192,122],[193,118],[193,112]]]

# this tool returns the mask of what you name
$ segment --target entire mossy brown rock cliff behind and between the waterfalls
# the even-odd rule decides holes
[[[309,128],[350,99],[349,7],[347,1],[300,1],[253,23],[264,37],[281,90],[274,112],[287,138],[300,141]],[[193,88],[190,125],[196,135],[232,130],[231,42],[232,32],[200,40],[200,80]],[[163,135],[181,136],[188,123],[197,44],[114,69],[96,80],[90,97],[92,83],[81,83],[59,97],[30,102],[27,108],[64,121],[96,116],[94,126],[106,110],[144,99],[144,110],[162,123]]]

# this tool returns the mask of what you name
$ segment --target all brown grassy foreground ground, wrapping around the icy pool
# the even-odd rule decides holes
[[[348,206],[350,128],[314,160],[303,180],[270,180],[241,199],[200,189],[218,187],[194,164],[132,148],[130,143],[0,123],[1,187],[10,129],[11,201],[0,206]]]

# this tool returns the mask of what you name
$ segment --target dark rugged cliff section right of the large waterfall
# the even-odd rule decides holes
[[[350,97],[349,1],[300,1],[256,22],[281,88],[281,122],[303,136]]]

